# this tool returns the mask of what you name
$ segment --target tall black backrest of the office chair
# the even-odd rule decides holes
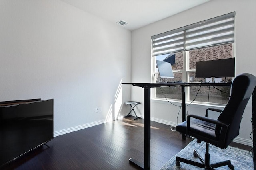
[[[255,86],[256,77],[252,74],[244,73],[234,78],[228,103],[218,117],[218,120],[229,124],[226,139],[221,139],[224,141],[224,148],[239,135],[242,115]],[[218,137],[220,135],[220,128],[216,127],[215,133],[216,137]]]

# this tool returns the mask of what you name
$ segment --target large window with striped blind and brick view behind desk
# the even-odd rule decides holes
[[[234,57],[234,16],[235,12],[232,12],[152,36],[153,82],[160,81],[155,60],[172,64],[175,78],[170,81],[196,82],[204,81],[195,78],[197,61]],[[186,92],[189,101],[196,98],[197,102],[226,104],[230,88],[192,86]],[[155,88],[153,97],[181,100],[181,89],[178,86]]]

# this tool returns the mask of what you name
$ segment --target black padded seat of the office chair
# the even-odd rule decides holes
[[[177,125],[176,131],[187,134],[187,121]],[[216,140],[215,125],[213,123],[190,117],[190,134],[187,135],[200,139],[204,139],[204,137],[206,137]]]

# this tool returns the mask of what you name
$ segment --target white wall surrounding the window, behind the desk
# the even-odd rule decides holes
[[[256,1],[255,0],[211,0],[200,6],[181,12],[164,20],[147,25],[132,31],[132,82],[151,82],[151,36],[198,21],[207,20],[216,16],[236,12],[235,16],[235,57],[236,75],[248,72],[256,75]],[[170,7],[171,8],[171,7]],[[142,102],[138,107],[143,115],[143,89],[132,87],[132,100]],[[190,114],[204,115],[206,106],[190,105],[187,110]],[[250,132],[252,124],[252,104],[249,101],[240,127],[240,135],[235,141],[252,145]],[[170,125],[176,125],[179,107],[168,102],[151,102],[152,120]],[[178,122],[181,121],[180,115]]]

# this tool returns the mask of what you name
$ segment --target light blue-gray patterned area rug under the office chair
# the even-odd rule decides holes
[[[191,143],[188,144],[184,149],[182,149],[178,154],[176,154],[172,159],[170,159],[161,170],[200,170],[203,168],[198,168],[189,164],[180,162],[180,167],[175,165],[176,156],[181,158],[186,158],[192,161],[200,162],[200,160],[193,156],[193,151],[196,149],[200,155],[204,158],[204,153],[206,150],[206,144],[197,143],[194,139]],[[231,164],[235,166],[235,170],[253,170],[253,158],[252,153],[249,151],[239,149],[236,147],[228,146],[226,149],[220,149],[213,145],[209,145],[210,153],[210,164],[222,162],[224,160],[230,160]],[[230,170],[228,166],[222,166],[216,168],[216,170]]]

